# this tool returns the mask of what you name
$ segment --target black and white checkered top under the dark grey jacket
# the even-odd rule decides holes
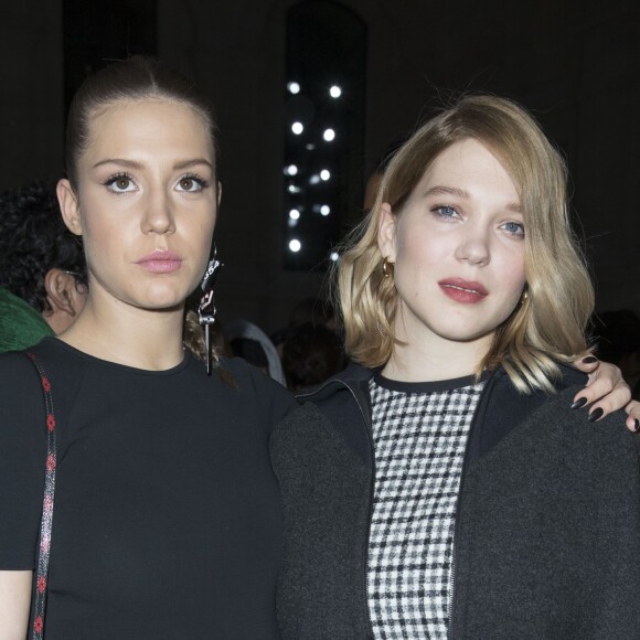
[[[483,383],[370,383],[375,490],[367,596],[377,640],[446,639],[456,503]]]

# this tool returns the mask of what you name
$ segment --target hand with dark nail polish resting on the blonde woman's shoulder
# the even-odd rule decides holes
[[[588,358],[583,359],[580,361],[582,364],[585,364],[584,360],[588,360]],[[594,363],[586,364],[593,365]],[[584,371],[583,366],[580,366],[580,370]],[[587,386],[574,396],[572,408],[577,409],[590,405],[588,408],[588,417],[589,420],[596,422],[609,415],[611,412],[621,409],[629,404],[630,399],[631,390],[622,380],[620,370],[608,362],[600,362],[599,366],[589,374]],[[638,416],[633,414],[633,417],[640,419],[640,407],[634,408],[634,410],[638,410]],[[632,423],[631,418],[629,418],[628,426],[630,423]]]

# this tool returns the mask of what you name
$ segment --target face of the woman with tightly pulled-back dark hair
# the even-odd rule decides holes
[[[92,118],[77,193],[58,184],[67,226],[83,235],[93,298],[180,307],[209,258],[217,209],[214,152],[192,107],[122,100]]]

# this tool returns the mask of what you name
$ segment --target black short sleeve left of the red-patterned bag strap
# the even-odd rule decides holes
[[[0,569],[33,569],[45,467],[44,395],[23,353],[0,355]]]

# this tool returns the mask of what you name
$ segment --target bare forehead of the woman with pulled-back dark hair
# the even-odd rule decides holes
[[[206,118],[191,105],[164,98],[122,99],[100,106],[88,118],[85,154],[118,158],[152,151],[205,156],[213,161]]]

